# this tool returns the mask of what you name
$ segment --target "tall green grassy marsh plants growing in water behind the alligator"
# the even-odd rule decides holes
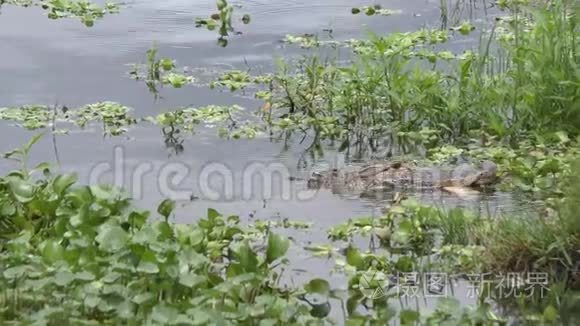
[[[475,51],[441,50],[449,39],[475,28],[464,22],[449,31],[371,34],[342,42],[340,47],[352,51],[347,63],[318,54],[280,60],[264,85],[266,128],[311,132],[316,140],[339,141],[341,148],[371,151],[395,138],[433,147],[554,131],[575,137],[580,42],[573,4],[509,2],[502,8],[508,16],[481,34]],[[303,48],[336,47],[316,36],[285,41]]]

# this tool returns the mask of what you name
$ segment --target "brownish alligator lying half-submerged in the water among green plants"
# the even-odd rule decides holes
[[[375,162],[358,168],[331,169],[313,172],[309,189],[331,189],[336,194],[374,196],[398,188],[459,192],[461,189],[481,189],[495,184],[497,165],[482,161],[479,166],[462,164],[456,167],[419,167],[403,162]]]

